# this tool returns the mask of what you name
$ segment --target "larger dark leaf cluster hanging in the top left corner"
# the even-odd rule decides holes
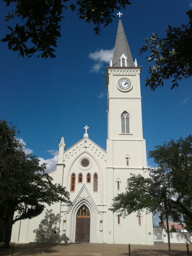
[[[14,51],[19,50],[19,56],[22,57],[24,55],[31,57],[38,51],[41,51],[38,56],[43,58],[56,57],[52,53],[54,51],[52,47],[57,47],[56,40],[61,36],[59,22],[63,18],[60,14],[63,9],[66,9],[66,6],[62,4],[65,1],[4,1],[7,5],[10,2],[17,3],[15,11],[5,16],[6,21],[16,16],[22,18],[24,25],[16,24],[15,29],[8,26],[12,33],[1,41],[8,41],[8,48]]]

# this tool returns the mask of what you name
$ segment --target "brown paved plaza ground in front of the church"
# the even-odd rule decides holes
[[[187,256],[185,243],[171,244],[172,256]],[[1,256],[11,256],[12,248],[0,248]],[[192,244],[189,244],[192,256]],[[29,243],[15,244],[14,256],[129,256],[127,244],[95,244],[95,243],[67,243],[46,244]],[[131,256],[167,256],[168,244],[155,242],[154,245],[131,245]]]

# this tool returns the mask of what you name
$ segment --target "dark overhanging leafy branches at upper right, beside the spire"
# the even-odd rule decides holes
[[[157,86],[163,87],[163,81],[173,77],[172,87],[178,87],[178,80],[188,78],[192,74],[192,10],[187,12],[189,23],[181,27],[168,26],[166,37],[159,38],[157,34],[145,39],[146,44],[140,49],[140,54],[150,50],[151,56],[147,57],[149,78],[145,86],[155,90]]]

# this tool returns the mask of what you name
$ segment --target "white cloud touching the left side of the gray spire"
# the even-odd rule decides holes
[[[110,62],[110,58],[113,57],[113,51],[114,49],[111,50],[104,50],[104,49],[97,49],[95,52],[90,52],[89,53],[89,58],[91,60],[94,60],[96,63],[92,65],[90,72],[103,72],[101,69],[104,67],[103,63],[108,63]]]

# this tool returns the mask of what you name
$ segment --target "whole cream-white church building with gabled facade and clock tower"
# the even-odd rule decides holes
[[[114,55],[106,67],[108,88],[108,137],[106,151],[88,136],[86,125],[83,138],[65,150],[64,138],[59,144],[57,168],[49,175],[70,193],[71,206],[55,203],[41,215],[17,221],[12,229],[12,242],[41,242],[48,232],[50,242],[56,233],[60,242],[90,242],[118,244],[153,244],[152,214],[133,212],[123,218],[108,209],[112,199],[125,191],[130,173],[142,174],[147,168],[146,145],[143,139],[140,72],[133,62],[119,18]],[[46,212],[59,216],[55,226],[45,230],[42,225]],[[44,223],[44,224],[43,224]],[[48,226],[48,224],[47,224]],[[55,228],[55,233],[52,228]],[[49,227],[47,227],[48,229]],[[43,231],[45,230],[45,231]]]

